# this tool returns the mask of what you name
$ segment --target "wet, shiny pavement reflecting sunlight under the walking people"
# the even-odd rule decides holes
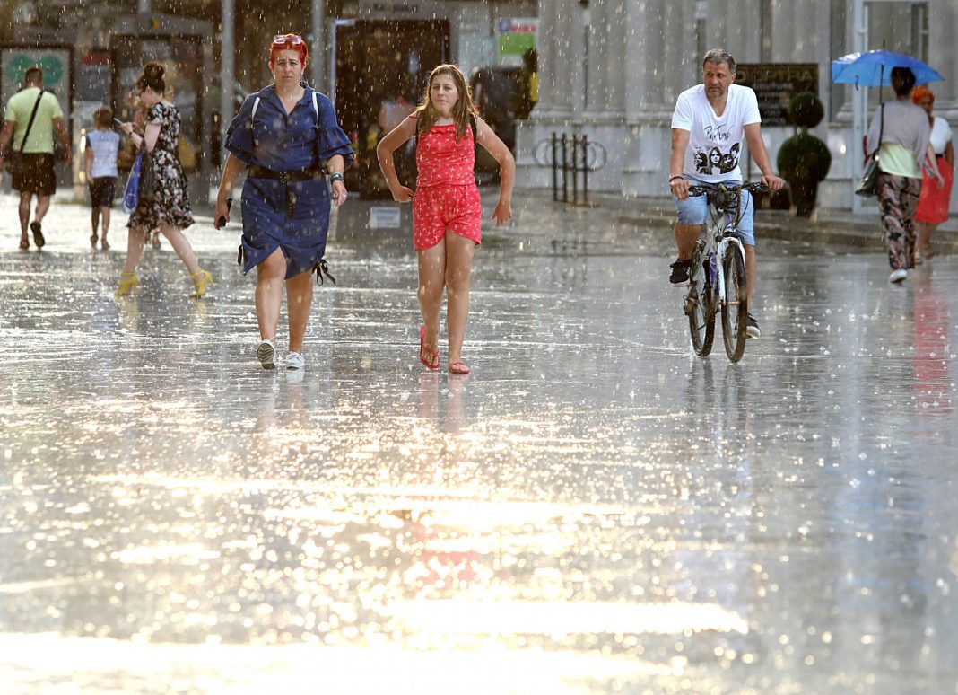
[[[114,298],[80,206],[4,224],[2,691],[958,692],[958,258],[763,243],[731,364],[668,228],[516,199],[468,377],[346,211],[305,374],[253,358],[236,224],[200,302],[166,243]]]

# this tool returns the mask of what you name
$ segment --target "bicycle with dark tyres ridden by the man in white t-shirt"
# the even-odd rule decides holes
[[[768,191],[761,183],[690,186],[690,196],[705,196],[711,223],[696,241],[689,268],[685,313],[689,317],[692,348],[706,357],[712,352],[716,314],[721,312],[722,337],[728,359],[737,362],[745,352],[748,286],[745,248],[738,235],[744,209],[742,191]]]

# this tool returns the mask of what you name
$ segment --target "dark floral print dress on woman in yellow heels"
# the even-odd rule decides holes
[[[181,124],[179,111],[172,104],[153,104],[147,112],[147,123],[160,127],[156,147],[149,153],[155,177],[153,198],[140,198],[127,226],[147,231],[166,225],[184,229],[193,224],[193,212],[186,174],[176,156]]]

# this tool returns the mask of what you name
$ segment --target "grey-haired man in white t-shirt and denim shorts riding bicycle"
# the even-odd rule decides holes
[[[733,84],[735,58],[713,49],[702,58],[702,83],[678,95],[672,117],[672,157],[669,188],[672,190],[678,221],[675,245],[678,258],[672,264],[669,281],[673,287],[688,287],[689,266],[696,239],[705,223],[708,202],[704,196],[690,197],[689,187],[715,188],[719,183],[741,183],[739,157],[741,141],[748,143],[752,159],[762,170],[762,183],[778,191],[785,181],[772,171],[762,139],[759,102],[750,87]],[[755,289],[754,206],[747,191],[741,194],[742,215],[738,230],[745,246],[745,277],[748,306]],[[759,322],[748,314],[747,334],[759,337]]]

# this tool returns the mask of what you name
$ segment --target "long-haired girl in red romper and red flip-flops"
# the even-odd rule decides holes
[[[439,313],[446,292],[449,372],[468,374],[462,360],[469,314],[472,252],[482,241],[482,207],[473,168],[475,143],[499,163],[499,201],[492,213],[496,226],[513,217],[515,160],[502,140],[478,116],[472,92],[455,65],[439,65],[429,75],[425,98],[416,112],[390,131],[376,147],[379,168],[397,202],[413,202],[413,245],[419,256],[419,302],[422,312],[422,364],[439,369]],[[472,132],[471,123],[476,124]],[[399,183],[393,152],[417,138],[419,177],[413,191]]]

